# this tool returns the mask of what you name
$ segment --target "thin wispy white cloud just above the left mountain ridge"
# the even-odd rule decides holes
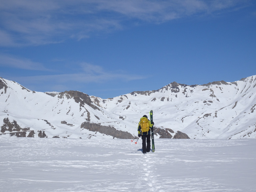
[[[146,79],[146,76],[128,74],[125,71],[109,71],[98,65],[88,63],[81,63],[79,72],[53,74],[53,75],[37,75],[37,76],[20,76],[10,77],[26,88],[31,90],[45,90],[45,91],[65,91],[78,90],[81,86],[92,84],[109,84],[113,81],[127,82],[133,80]],[[80,87],[80,88],[79,88]]]

